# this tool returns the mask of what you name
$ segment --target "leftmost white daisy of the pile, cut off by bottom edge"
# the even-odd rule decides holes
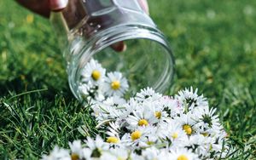
[[[53,151],[49,153],[49,156],[43,155],[42,160],[71,160],[69,151],[55,146]]]

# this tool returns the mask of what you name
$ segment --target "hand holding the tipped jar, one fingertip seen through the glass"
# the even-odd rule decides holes
[[[59,11],[61,9],[65,9],[67,6],[68,0],[16,0],[22,6],[26,7],[27,9],[32,10],[37,14],[41,14],[44,17],[49,18],[49,13],[51,10]],[[147,0],[137,0],[138,3],[141,5],[143,10],[149,14],[148,12],[148,3]],[[115,51],[121,52],[125,51],[126,45],[124,42],[114,43],[111,46],[112,49]]]

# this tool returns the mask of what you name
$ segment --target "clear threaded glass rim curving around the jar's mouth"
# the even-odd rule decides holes
[[[81,37],[78,37],[81,38]],[[166,38],[155,28],[140,25],[122,25],[108,28],[105,31],[99,31],[95,37],[84,40],[84,43],[79,45],[83,47],[76,47],[76,50],[72,50],[73,55],[68,64],[68,80],[70,88],[73,94],[81,100],[79,95],[79,77],[81,69],[84,67],[90,58],[100,52],[102,49],[108,48],[113,43],[130,39],[148,39],[155,43],[159,43],[164,49],[166,49],[166,64],[165,69],[161,73],[161,77],[158,78],[158,82],[154,83],[153,87],[159,92],[163,92],[167,86],[170,86],[174,72],[174,58],[172,50],[166,43]],[[79,40],[81,42],[81,40]],[[157,56],[157,55],[155,55]],[[135,59],[136,60],[136,59]]]

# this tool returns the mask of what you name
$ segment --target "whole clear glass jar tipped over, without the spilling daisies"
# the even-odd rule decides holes
[[[137,0],[70,0],[50,20],[67,60],[70,88],[79,100],[83,70],[91,59],[126,77],[134,95],[150,87],[164,92],[172,83],[173,57],[166,38]],[[126,49],[111,48],[125,43]],[[124,47],[124,46],[123,46]]]

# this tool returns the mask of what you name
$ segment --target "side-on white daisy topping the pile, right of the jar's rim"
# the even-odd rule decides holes
[[[175,98],[182,103],[185,113],[193,110],[197,106],[208,106],[207,99],[204,98],[203,95],[199,96],[197,89],[195,89],[194,92],[192,87],[179,91],[178,94],[175,95]]]

